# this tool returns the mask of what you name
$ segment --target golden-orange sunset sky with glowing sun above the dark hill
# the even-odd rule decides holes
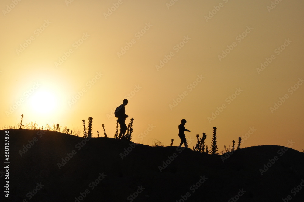
[[[302,151],[304,2],[172,2],[1,1],[1,127],[93,117],[112,137],[127,98],[137,143],[177,146],[186,119],[191,148],[216,126],[219,151],[239,136]]]

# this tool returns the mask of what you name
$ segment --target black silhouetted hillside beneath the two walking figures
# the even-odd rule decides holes
[[[58,132],[9,130],[5,161],[5,131],[0,134],[0,158],[10,162],[9,200],[4,201],[281,202],[288,195],[288,201],[304,199],[304,153],[283,146],[243,148],[223,158],[114,138],[86,141]],[[21,156],[24,146],[29,149]],[[2,165],[4,170],[7,164]],[[5,176],[0,176],[4,193]]]

